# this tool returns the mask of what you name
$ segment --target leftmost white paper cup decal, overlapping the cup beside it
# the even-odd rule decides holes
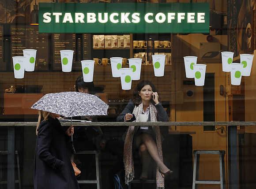
[[[25,56],[12,57],[14,78],[17,78],[17,79],[24,78],[26,60],[27,58]]]

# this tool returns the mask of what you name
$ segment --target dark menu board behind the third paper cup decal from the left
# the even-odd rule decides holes
[[[73,50],[72,70],[76,68],[76,36],[72,33],[53,34],[53,70],[61,70],[60,50]]]

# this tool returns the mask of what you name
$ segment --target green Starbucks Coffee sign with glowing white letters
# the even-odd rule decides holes
[[[208,3],[39,3],[39,33],[209,33]]]

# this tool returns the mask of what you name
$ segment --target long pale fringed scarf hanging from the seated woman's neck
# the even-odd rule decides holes
[[[133,114],[137,117],[139,114],[142,114],[143,103],[139,104],[139,106],[135,106],[133,109]],[[151,122],[157,122],[157,110],[153,104],[149,104],[149,111],[151,116]],[[156,145],[158,148],[158,154],[161,160],[163,160],[162,156],[162,140],[159,126],[152,126],[153,131],[156,136]],[[135,133],[135,126],[129,126],[125,141],[124,141],[124,169],[125,169],[125,183],[128,185],[129,182],[134,178],[134,163],[132,156],[132,144],[133,144],[133,136]],[[156,168],[156,186],[157,189],[164,189],[164,178],[159,173],[158,166]]]

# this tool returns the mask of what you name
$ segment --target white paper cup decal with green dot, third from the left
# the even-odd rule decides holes
[[[61,67],[63,72],[71,72],[73,54],[73,50],[60,50]]]

